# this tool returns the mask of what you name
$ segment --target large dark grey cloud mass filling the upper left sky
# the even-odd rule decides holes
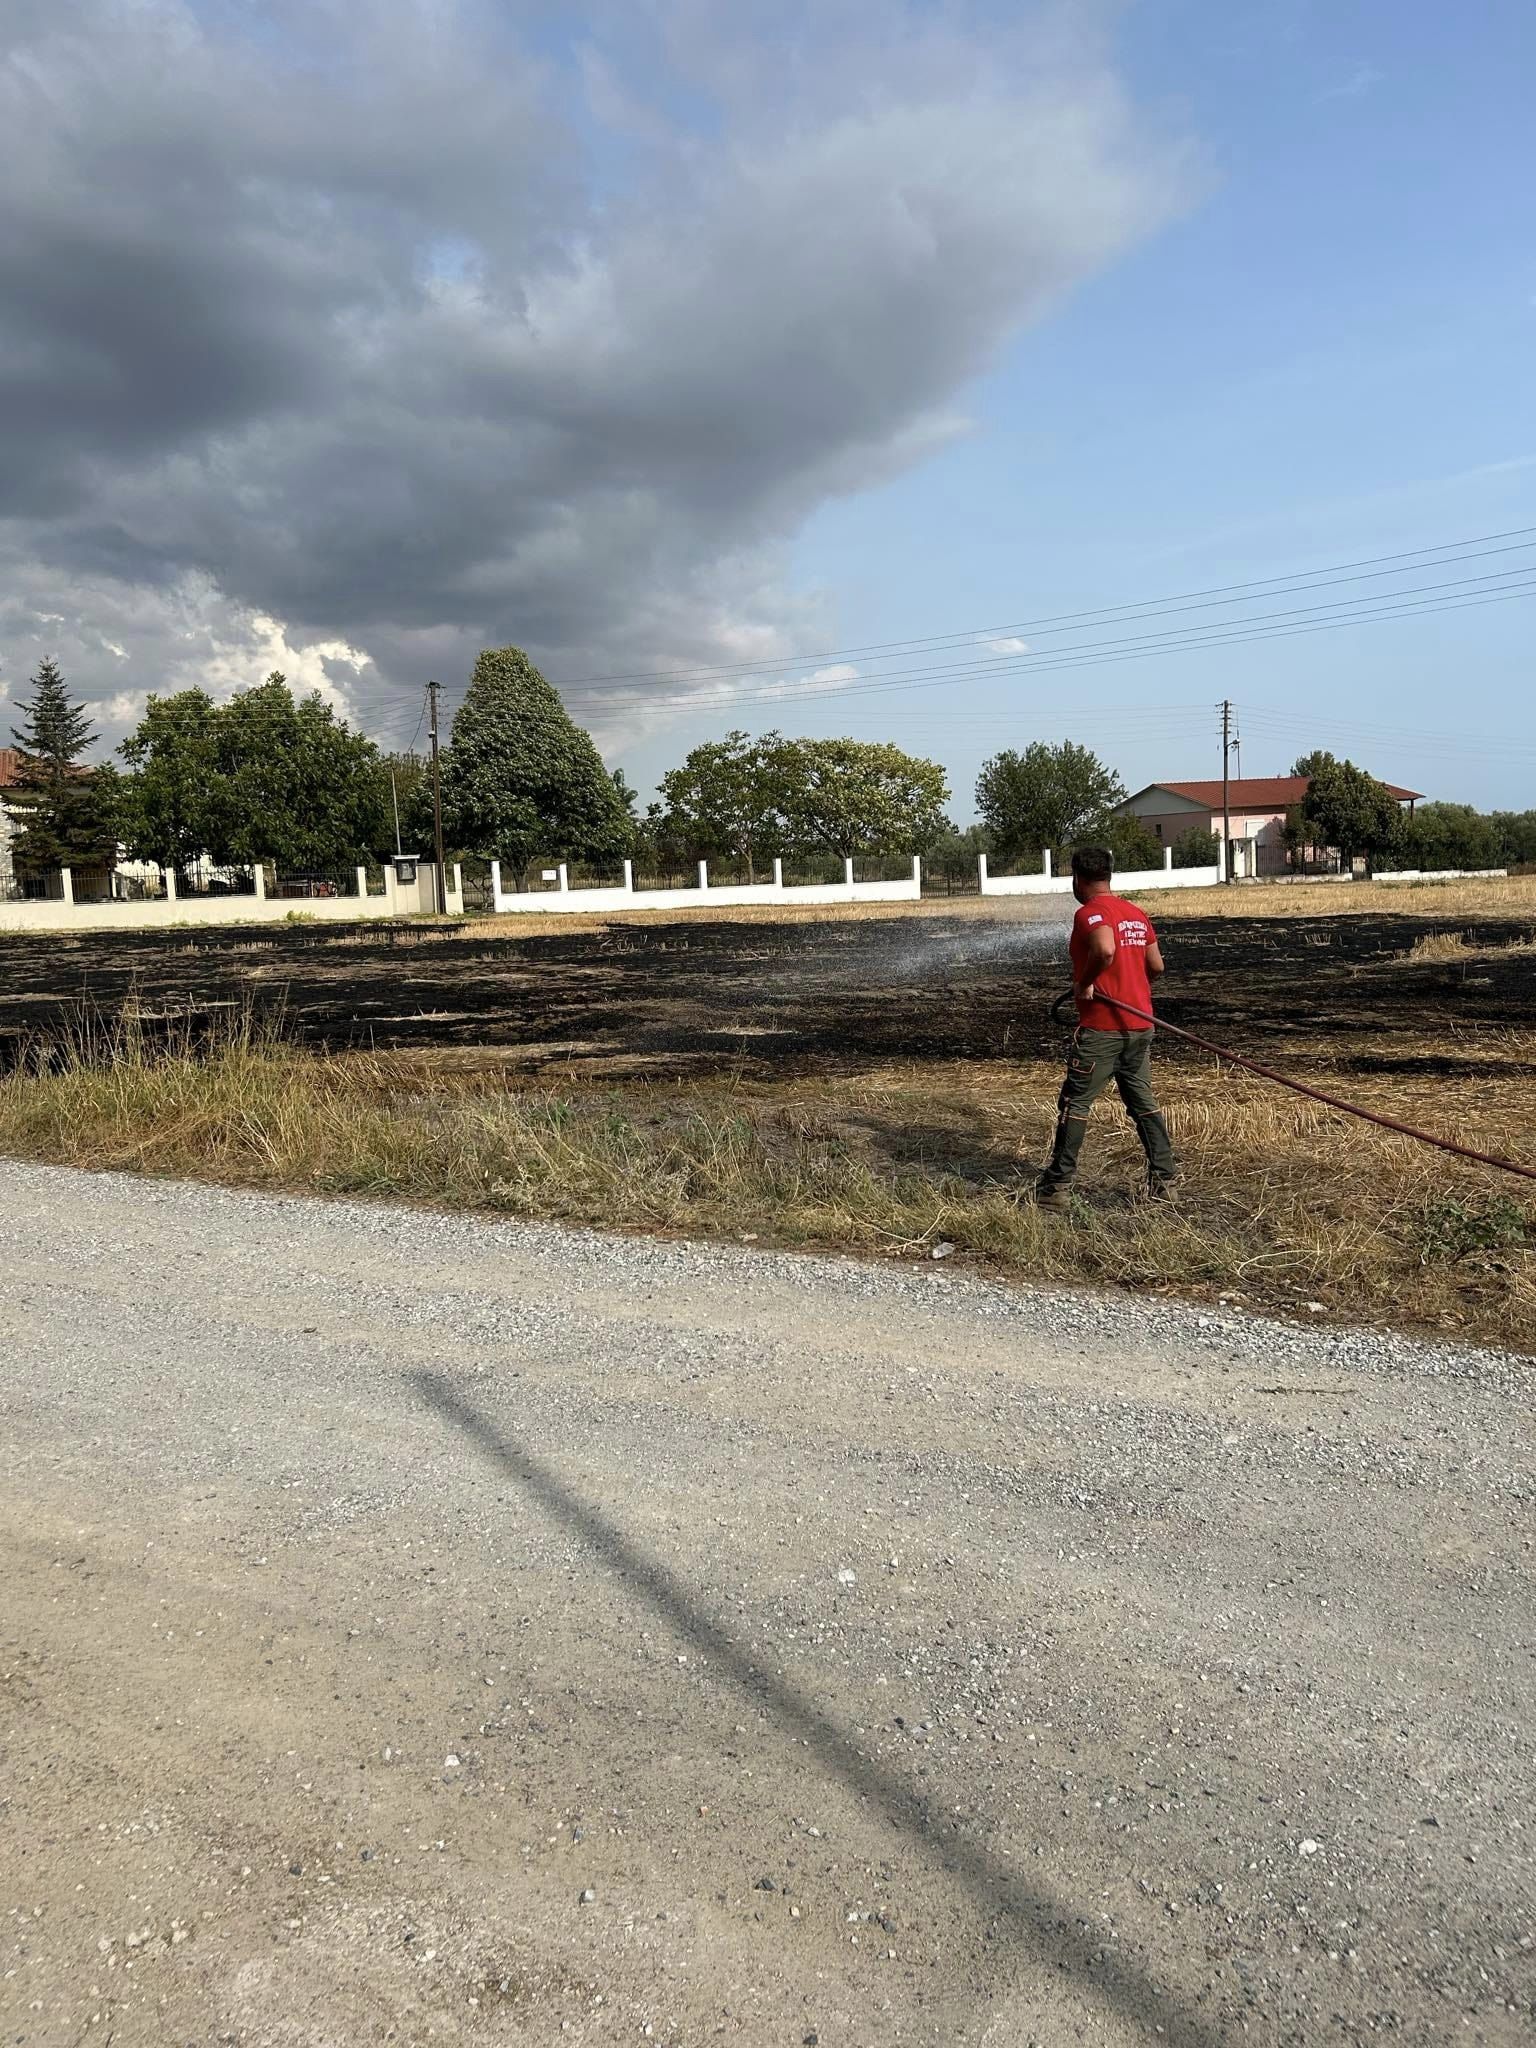
[[[797,524],[1180,184],[1092,49],[889,0],[12,0],[6,678],[770,653]]]

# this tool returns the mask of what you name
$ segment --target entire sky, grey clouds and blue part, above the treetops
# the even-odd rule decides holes
[[[1536,805],[1526,0],[8,0],[0,721]],[[913,645],[915,643],[915,645]]]

